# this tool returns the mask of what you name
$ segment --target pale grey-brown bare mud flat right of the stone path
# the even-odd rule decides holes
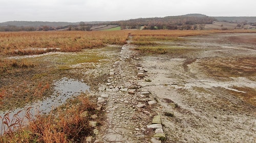
[[[174,113],[162,116],[166,142],[255,142],[256,45],[244,37],[256,34],[187,37],[179,46],[195,52],[143,57],[143,90]]]

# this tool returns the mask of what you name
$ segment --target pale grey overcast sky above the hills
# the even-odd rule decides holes
[[[114,21],[200,13],[256,16],[255,0],[0,0],[0,22]]]

